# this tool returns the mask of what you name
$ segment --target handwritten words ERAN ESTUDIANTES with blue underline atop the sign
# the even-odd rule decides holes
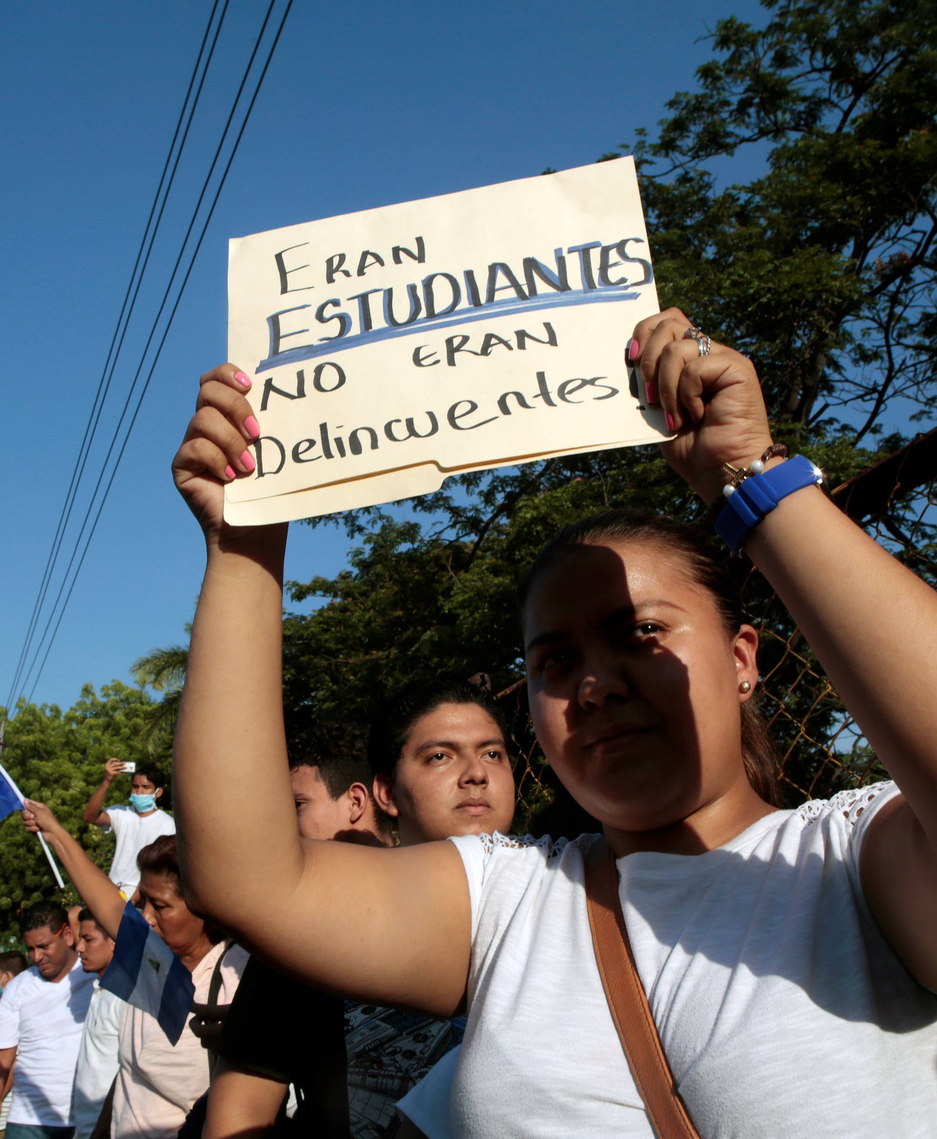
[[[402,264],[404,254],[424,263],[424,239],[417,237],[414,244],[415,253],[404,246],[394,246],[394,263]],[[610,243],[585,241],[569,245],[565,249],[559,247],[553,251],[552,264],[528,256],[521,260],[519,272],[505,261],[492,261],[482,272],[474,269],[463,269],[458,273],[437,271],[402,287],[367,288],[344,298],[328,297],[318,305],[308,303],[280,309],[267,318],[269,352],[256,371],[427,328],[446,328],[495,316],[571,304],[636,300],[638,294],[635,289],[651,284],[653,270],[650,261],[629,252],[632,244],[643,245],[644,239],[626,237]],[[315,288],[312,285],[291,286],[290,274],[308,268],[286,268],[284,255],[296,248],[301,246],[291,246],[274,255],[282,295]],[[576,273],[572,279],[570,256]],[[351,276],[350,270],[341,268],[343,263],[344,254],[328,259],[326,277],[329,284],[334,282],[336,273]],[[378,253],[365,249],[358,261],[358,276],[362,277],[372,267],[381,268],[384,263]],[[613,274],[613,270],[619,272]],[[323,335],[317,336],[317,331]],[[296,343],[298,339],[300,343]]]

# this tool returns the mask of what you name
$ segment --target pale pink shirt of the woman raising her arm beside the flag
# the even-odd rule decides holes
[[[207,1001],[212,972],[228,944],[213,945],[195,966],[196,1001]],[[246,965],[246,950],[231,945],[221,962],[219,1005],[234,1000]],[[209,1054],[202,1041],[186,1025],[173,1047],[156,1022],[157,1011],[124,1007],[111,1125],[111,1134],[120,1139],[176,1139],[189,1108],[209,1087]]]

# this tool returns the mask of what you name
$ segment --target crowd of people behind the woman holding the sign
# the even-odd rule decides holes
[[[43,803],[30,801],[25,813],[87,906],[44,904],[23,915],[38,976],[0,1002],[10,1139],[67,1136],[72,1128],[75,1139],[285,1132],[380,1139],[423,1133],[414,1121],[431,1128],[414,1089],[457,1049],[464,1017],[344,1000],[248,957],[185,903],[174,825],[156,810],[150,789],[162,788],[160,772],[136,772],[130,808],[103,810],[120,771],[120,761],[107,761],[84,814],[115,831],[114,820],[132,818],[108,875]],[[288,771],[296,830],[307,839],[382,847],[511,830],[515,788],[504,724],[488,693],[467,682],[424,686],[386,702],[369,739],[355,726],[315,726],[291,744]],[[130,939],[132,926],[122,929],[129,906],[192,974],[194,1015],[177,1041],[158,1023],[157,986],[123,1000],[101,984],[115,942]],[[11,969],[25,968],[23,954],[7,956]],[[66,977],[71,988],[59,986]],[[56,1000],[34,1005],[36,989]]]

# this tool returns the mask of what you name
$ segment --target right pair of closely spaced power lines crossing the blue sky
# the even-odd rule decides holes
[[[238,101],[241,100],[242,91],[243,91],[244,85],[246,83],[247,75],[248,75],[248,73],[251,71],[251,67],[253,65],[254,56],[256,55],[256,51],[258,51],[258,49],[260,47],[260,41],[263,38],[263,32],[266,31],[267,22],[270,18],[270,14],[272,13],[275,3],[276,3],[276,0],[270,0],[270,7],[267,10],[267,16],[264,17],[263,26],[260,30],[260,35],[258,36],[256,43],[254,44],[254,50],[251,54],[251,59],[250,59],[250,62],[247,64],[247,68],[246,68],[246,71],[244,73],[244,79],[242,80],[241,87],[238,88],[237,96],[235,97],[235,101],[234,101],[234,104],[231,106],[231,114],[228,116],[228,123],[225,126],[225,132],[223,132],[223,134],[221,137],[221,144],[219,144],[219,148],[215,151],[215,157],[212,161],[212,166],[211,166],[211,170],[209,171],[209,178],[211,178],[211,173],[214,170],[214,164],[218,161],[218,156],[219,156],[219,154],[221,151],[221,146],[223,144],[225,137],[228,133],[228,128],[230,126],[231,120],[234,118],[235,109],[237,107]],[[185,274],[185,277],[182,279],[182,284],[179,287],[179,293],[178,293],[178,295],[176,297],[176,302],[174,302],[174,304],[172,306],[172,311],[170,312],[169,320],[168,320],[166,326],[165,326],[165,328],[163,330],[163,335],[162,335],[162,338],[160,341],[158,347],[156,349],[156,354],[155,354],[155,357],[153,359],[153,363],[150,364],[149,372],[147,375],[146,382],[145,382],[145,384],[142,386],[142,390],[140,392],[139,400],[137,401],[137,407],[136,407],[136,409],[133,411],[133,416],[132,416],[132,418],[130,420],[130,424],[128,426],[127,434],[124,436],[124,440],[123,440],[123,443],[121,445],[120,452],[117,453],[117,459],[116,459],[116,461],[114,464],[114,467],[113,467],[113,469],[111,472],[111,478],[107,482],[107,486],[105,487],[104,497],[101,498],[100,505],[98,506],[98,511],[95,515],[95,521],[93,521],[93,524],[91,525],[91,530],[90,530],[90,532],[88,534],[88,540],[84,543],[84,550],[82,551],[82,555],[81,555],[81,558],[79,560],[78,567],[75,568],[75,573],[74,573],[74,575],[72,577],[72,584],[68,588],[68,592],[67,592],[67,595],[65,597],[65,603],[62,606],[62,609],[59,612],[58,620],[56,621],[55,629],[52,630],[52,636],[49,639],[49,644],[48,644],[48,646],[46,648],[46,653],[44,653],[44,655],[42,657],[42,663],[40,664],[39,671],[35,674],[35,679],[33,681],[33,686],[30,689],[30,696],[28,696],[28,699],[26,702],[27,704],[32,703],[33,693],[35,691],[35,687],[39,683],[39,678],[42,675],[42,670],[46,667],[46,662],[47,662],[47,659],[49,657],[49,652],[51,650],[51,647],[52,647],[52,644],[55,641],[56,634],[58,633],[59,625],[62,624],[62,618],[65,615],[65,609],[67,608],[68,601],[70,601],[70,599],[72,597],[72,591],[75,588],[75,582],[78,581],[78,575],[81,572],[82,565],[84,564],[84,558],[85,558],[85,556],[88,554],[88,549],[89,549],[89,547],[91,544],[91,539],[95,536],[95,531],[97,530],[98,521],[100,519],[101,511],[104,509],[104,505],[107,501],[107,495],[111,493],[111,487],[112,487],[112,485],[114,483],[114,476],[116,475],[117,468],[120,467],[121,459],[123,458],[123,453],[124,453],[124,451],[127,449],[127,444],[128,444],[128,442],[130,440],[130,434],[133,431],[133,425],[137,421],[137,416],[139,415],[140,407],[142,405],[144,398],[146,396],[146,393],[147,393],[147,388],[149,387],[149,383],[153,379],[153,374],[156,370],[156,364],[158,363],[160,355],[162,354],[163,346],[164,346],[164,344],[166,342],[166,337],[169,336],[169,330],[170,330],[170,327],[172,326],[172,320],[173,320],[173,318],[176,316],[177,309],[179,308],[179,303],[182,300],[182,294],[185,292],[186,285],[188,284],[188,279],[189,279],[189,276],[192,273],[192,270],[193,270],[193,268],[195,265],[195,260],[198,256],[198,251],[202,247],[202,241],[203,241],[203,239],[205,237],[205,232],[206,232],[206,230],[209,228],[209,223],[211,222],[212,215],[214,214],[214,208],[218,205],[218,199],[221,196],[221,190],[223,189],[225,181],[226,181],[226,179],[228,177],[228,172],[230,171],[231,164],[234,163],[235,155],[237,154],[237,148],[241,145],[241,139],[244,136],[244,130],[245,130],[245,128],[247,125],[247,121],[251,117],[251,112],[254,108],[254,104],[256,101],[256,97],[260,93],[260,88],[261,88],[261,85],[263,83],[264,76],[267,75],[267,69],[270,66],[270,60],[274,57],[274,52],[276,51],[277,43],[279,42],[280,33],[283,32],[284,25],[286,23],[286,18],[290,15],[290,10],[291,10],[292,7],[293,7],[293,0],[287,0],[286,7],[284,8],[283,16],[280,17],[279,27],[277,28],[276,35],[274,36],[274,42],[270,46],[270,50],[269,50],[269,52],[267,55],[267,59],[266,59],[266,62],[263,64],[263,68],[262,68],[262,71],[260,73],[260,79],[258,80],[256,87],[254,88],[254,93],[251,97],[251,101],[250,101],[250,104],[247,106],[247,110],[244,114],[244,120],[243,120],[243,122],[241,124],[241,129],[238,130],[237,138],[235,139],[234,148],[231,149],[230,156],[228,157],[227,165],[225,166],[225,171],[223,171],[223,173],[221,175],[221,180],[220,180],[220,182],[218,185],[218,189],[215,190],[215,195],[214,195],[214,198],[212,199],[211,207],[209,208],[207,216],[205,218],[205,222],[204,222],[204,224],[202,227],[202,232],[198,236],[198,241],[196,243],[195,249],[193,251],[188,269],[186,270],[186,274]],[[197,214],[198,207],[202,204],[202,198],[204,196],[204,191],[207,188],[209,178],[206,178],[205,186],[203,187],[203,191],[202,191],[202,194],[198,197],[198,205],[196,205],[195,213],[193,214],[193,224],[195,222],[195,214]],[[189,230],[186,233],[186,238],[185,238],[185,240],[182,243],[182,249],[185,249],[185,246],[186,246],[186,244],[188,241],[188,237],[189,237],[190,232],[192,232],[192,226],[189,226]],[[180,260],[181,260],[181,253],[180,253]],[[179,261],[177,261],[177,268],[178,268],[178,264],[179,264]],[[160,305],[160,313],[162,313],[162,310],[163,310],[163,306],[165,304],[165,301],[169,297],[169,290],[172,287],[172,280],[173,280],[174,277],[176,277],[176,269],[173,269],[172,277],[170,278],[170,284],[166,287],[166,294],[165,294],[165,296],[163,298],[163,304]],[[156,319],[158,320],[158,314],[157,314]],[[155,322],[154,322],[154,330],[155,330]],[[150,338],[152,338],[152,336],[150,336]],[[148,347],[149,347],[149,341],[147,341],[147,349]],[[147,349],[144,350],[144,358],[146,357]],[[141,360],[141,363],[140,363],[140,370],[141,369],[142,369],[142,360]],[[137,376],[133,379],[133,386],[131,387],[131,394],[132,394],[133,387],[136,387],[137,378],[138,377],[139,377],[139,370],[137,372]],[[129,401],[129,399],[130,398],[128,398],[128,401]],[[124,410],[125,410],[125,408],[124,408]],[[123,421],[123,413],[121,415],[121,423],[122,421]],[[117,431],[120,431],[120,424],[117,426]],[[115,440],[116,440],[116,433],[115,433]],[[109,457],[109,451],[108,451],[108,457]],[[106,462],[106,460],[105,460],[105,462]],[[97,487],[96,487],[95,493],[97,493]],[[92,502],[93,502],[93,497],[92,497]],[[85,514],[85,522],[88,519],[88,515],[90,514],[90,509],[91,508],[89,507],[88,514]],[[83,530],[84,530],[84,523],[82,523],[82,531]],[[79,541],[81,541],[81,534],[79,534]],[[78,547],[75,549],[78,549]],[[64,582],[63,582],[63,588],[64,588]],[[59,590],[59,597],[60,596],[62,596],[62,590]],[[58,605],[58,597],[56,598],[56,605]],[[52,614],[55,613],[56,605],[52,606]],[[49,622],[51,622],[51,615],[49,617]],[[42,638],[40,639],[40,642],[39,642],[40,649],[41,649],[41,646],[42,646],[42,640],[44,640],[46,633],[48,632],[48,629],[49,629],[49,623],[47,623],[46,630],[43,631]],[[36,655],[38,655],[38,652],[36,652]],[[32,666],[30,667],[30,672],[32,672]],[[26,674],[26,682],[28,682],[28,673]],[[23,687],[25,688],[25,682],[24,682]]]

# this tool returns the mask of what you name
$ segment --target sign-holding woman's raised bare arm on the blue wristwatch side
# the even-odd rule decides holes
[[[719,345],[699,358],[687,325],[669,310],[635,339],[681,431],[668,461],[711,503],[722,464],[750,467],[771,435],[751,363]],[[905,965],[937,989],[937,593],[815,486],[783,498],[745,549],[903,793],[869,828],[863,888]]]

